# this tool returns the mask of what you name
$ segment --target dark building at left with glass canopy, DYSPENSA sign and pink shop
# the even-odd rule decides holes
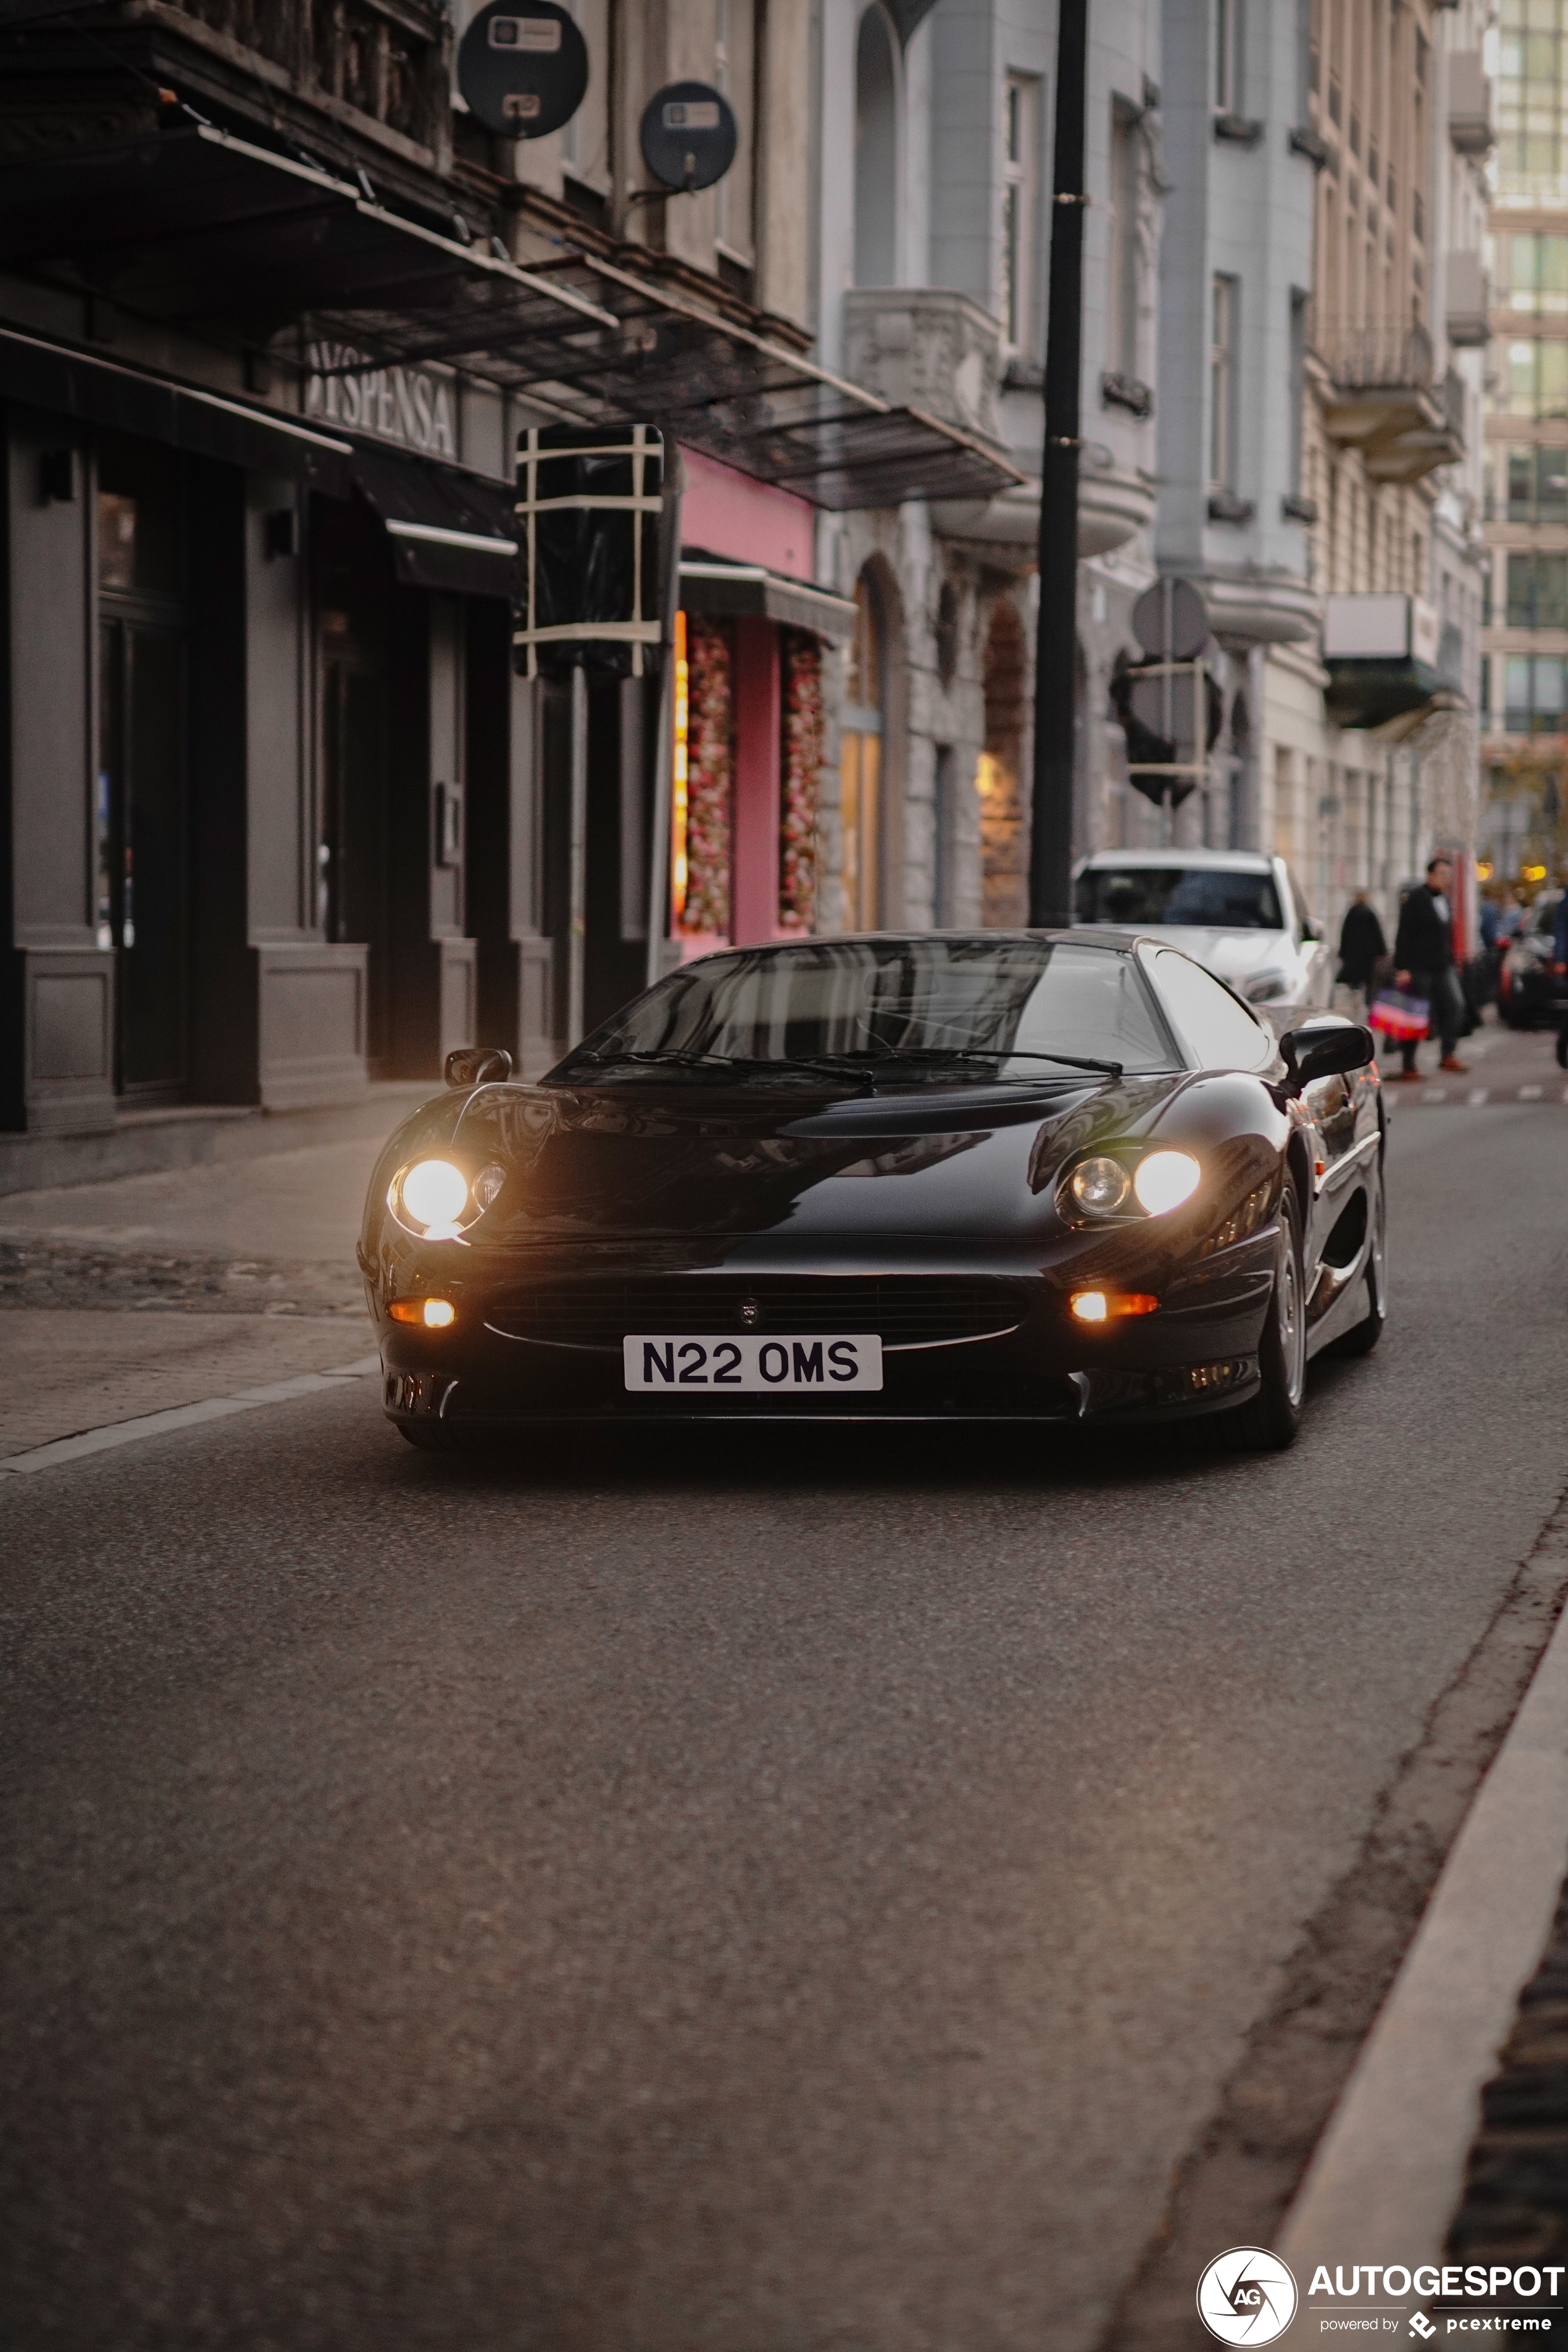
[[[581,0],[588,92],[536,141],[465,108],[468,14],[108,0],[0,35],[14,1134],[341,1101],[475,1035],[538,1070],[670,953],[811,927],[856,626],[818,510],[1013,477],[813,358],[809,0]],[[736,160],[668,193],[639,122],[693,75]],[[684,480],[691,903],[670,663],[520,675],[512,642],[520,442],[564,430],[590,482],[635,423]]]

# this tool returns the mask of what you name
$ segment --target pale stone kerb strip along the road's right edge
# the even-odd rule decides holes
[[[1563,1529],[1549,1524],[1537,1550],[1561,1552]],[[1274,2241],[1298,2277],[1392,2253],[1441,2260],[1481,2084],[1540,1962],[1566,1867],[1561,1616]]]

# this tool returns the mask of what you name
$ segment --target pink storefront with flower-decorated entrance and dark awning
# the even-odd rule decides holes
[[[816,510],[684,452],[670,927],[682,955],[816,929],[823,652]]]

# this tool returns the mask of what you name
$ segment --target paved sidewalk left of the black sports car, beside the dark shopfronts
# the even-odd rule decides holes
[[[364,1355],[364,1188],[428,1091],[376,1134],[0,1197],[0,1461]]]

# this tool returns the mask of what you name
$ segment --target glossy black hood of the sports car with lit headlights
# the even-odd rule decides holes
[[[1114,1084],[952,1087],[900,1096],[799,1089],[484,1087],[442,1143],[430,1122],[393,1138],[367,1228],[409,1157],[449,1148],[505,1169],[477,1247],[771,1235],[1020,1237],[1053,1221],[1063,1162],[1147,1134],[1192,1073]],[[1255,1082],[1253,1082],[1255,1084]],[[376,1247],[376,1230],[367,1230]]]

